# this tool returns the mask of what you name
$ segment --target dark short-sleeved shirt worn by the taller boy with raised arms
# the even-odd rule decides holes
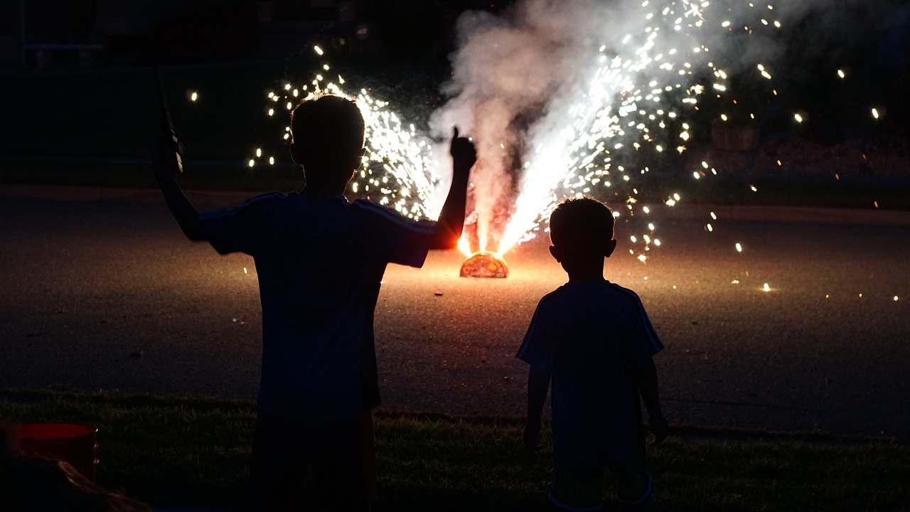
[[[259,411],[311,425],[379,404],[373,312],[389,262],[420,267],[435,222],[368,200],[270,193],[199,217],[219,253],[253,256],[262,303]]]

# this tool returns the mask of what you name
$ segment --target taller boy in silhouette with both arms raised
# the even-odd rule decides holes
[[[291,112],[290,153],[303,169],[303,189],[200,215],[175,178],[180,146],[162,118],[155,171],[180,228],[220,254],[245,252],[256,262],[262,373],[250,477],[258,507],[299,509],[309,469],[320,510],[369,510],[379,283],[389,262],[420,267],[430,249],[456,246],[473,144],[454,129],[453,179],[440,218],[410,220],[342,195],[364,154],[363,116],[346,97],[307,99]]]

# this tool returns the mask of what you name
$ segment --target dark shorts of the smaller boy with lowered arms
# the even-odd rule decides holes
[[[644,466],[644,450],[622,464],[606,466],[616,478],[616,497],[625,505],[641,505],[651,497],[653,480]],[[604,467],[556,466],[550,501],[559,510],[603,510]]]

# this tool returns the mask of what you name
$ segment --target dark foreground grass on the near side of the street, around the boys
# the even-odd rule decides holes
[[[5,390],[0,417],[96,425],[98,482],[154,506],[229,508],[247,492],[253,404]],[[551,452],[521,448],[521,421],[378,415],[376,435],[379,511],[548,510]],[[686,439],[649,447],[652,510],[910,509],[907,445]]]

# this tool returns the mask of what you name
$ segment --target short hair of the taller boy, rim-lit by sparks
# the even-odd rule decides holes
[[[363,114],[352,98],[319,95],[290,113],[291,141],[304,159],[348,158],[363,148]]]

